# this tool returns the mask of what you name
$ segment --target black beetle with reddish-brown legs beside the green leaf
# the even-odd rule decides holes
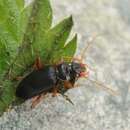
[[[79,77],[86,75],[85,64],[75,61],[43,66],[38,58],[35,66],[36,69],[18,84],[17,97],[27,100],[38,96],[35,100],[37,101],[42,93],[52,92],[55,96],[58,92],[64,95],[68,89],[74,87],[75,81]]]

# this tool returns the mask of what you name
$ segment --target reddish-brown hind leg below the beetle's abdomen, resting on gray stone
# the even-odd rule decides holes
[[[31,108],[35,108],[35,106],[44,98],[44,96],[46,95],[46,93],[35,96],[34,98],[32,98],[32,104],[31,104]]]

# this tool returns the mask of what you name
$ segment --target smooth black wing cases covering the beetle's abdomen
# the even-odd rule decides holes
[[[55,84],[56,73],[54,67],[45,66],[43,69],[34,70],[19,83],[16,96],[29,99],[50,91]]]

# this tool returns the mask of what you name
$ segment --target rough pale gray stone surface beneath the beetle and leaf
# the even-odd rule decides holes
[[[90,79],[117,91],[111,95],[87,80],[67,94],[48,95],[31,110],[30,102],[4,113],[0,130],[130,130],[130,11],[129,0],[51,0],[54,24],[72,14],[79,35],[77,55],[94,33],[100,34],[86,52],[96,70]]]

